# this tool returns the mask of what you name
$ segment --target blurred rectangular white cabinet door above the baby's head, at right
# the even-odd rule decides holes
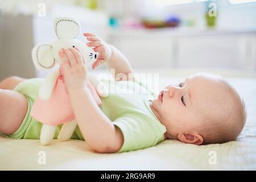
[[[180,38],[177,66],[243,68],[242,44],[233,35]]]

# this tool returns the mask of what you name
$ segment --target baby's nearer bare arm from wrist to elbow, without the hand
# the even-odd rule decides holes
[[[69,96],[79,129],[90,148],[101,153],[117,152],[123,144],[122,132],[102,113],[90,91],[72,89]]]

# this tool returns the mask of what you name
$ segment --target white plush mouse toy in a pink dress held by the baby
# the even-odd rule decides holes
[[[48,70],[60,64],[59,51],[61,48],[78,48],[84,56],[85,62],[95,61],[97,53],[86,46],[84,42],[76,37],[81,32],[80,23],[73,18],[56,18],[54,30],[57,40],[52,43],[37,44],[32,49],[32,60],[39,70]],[[97,105],[101,104],[100,97],[107,97],[108,90],[92,76],[88,76],[86,82],[88,89]],[[63,68],[53,71],[47,75],[39,90],[30,114],[43,123],[40,134],[40,143],[43,145],[51,142],[55,136],[57,125],[63,124],[58,135],[60,141],[69,140],[76,129],[77,123],[64,85]],[[88,113],[89,114],[89,113]]]

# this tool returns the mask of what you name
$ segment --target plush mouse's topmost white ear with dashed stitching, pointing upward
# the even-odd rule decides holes
[[[58,39],[75,39],[81,31],[79,21],[74,18],[56,18],[54,27]]]

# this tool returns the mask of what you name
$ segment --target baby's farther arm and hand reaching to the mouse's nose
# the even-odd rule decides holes
[[[93,69],[98,65],[105,63],[108,69],[114,69],[115,75],[113,76],[117,80],[117,75],[119,73],[125,74],[127,78],[131,79],[131,77],[128,77],[129,74],[131,75],[131,73],[133,73],[131,65],[127,58],[117,48],[105,43],[94,34],[85,33],[84,36],[86,36],[87,40],[91,41],[87,43],[87,45],[89,47],[94,47],[94,51],[99,53],[97,60],[92,65]]]

